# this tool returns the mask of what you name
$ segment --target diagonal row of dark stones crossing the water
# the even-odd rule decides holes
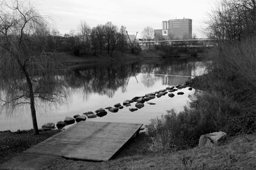
[[[83,113],[83,115],[74,115],[74,117],[65,117],[64,121],[59,121],[57,122],[56,126],[58,129],[63,129],[63,127],[65,127],[66,125],[70,125],[70,124],[74,124],[75,122],[81,122],[81,121],[85,121],[86,118],[96,118],[96,117],[104,117],[108,114],[108,111],[116,113],[118,112],[118,110],[122,110],[124,108],[124,106],[128,107],[131,106],[131,103],[136,102],[135,107],[136,108],[129,108],[129,111],[137,111],[138,109],[143,108],[145,105],[144,103],[146,101],[150,101],[152,99],[155,99],[156,97],[159,98],[161,96],[165,96],[166,94],[168,94],[168,92],[170,92],[170,94],[168,94],[169,97],[174,97],[175,94],[173,94],[173,92],[180,90],[180,89],[184,89],[186,88],[186,85],[177,85],[177,86],[172,86],[172,87],[166,87],[166,89],[163,90],[159,90],[157,92],[152,92],[150,94],[146,94],[145,96],[140,96],[140,97],[134,97],[131,100],[126,100],[123,102],[123,106],[120,103],[117,103],[114,105],[114,107],[107,107],[105,109],[100,108],[98,110],[95,111],[95,113],[93,113],[92,111],[88,111],[86,113]],[[188,90],[192,90],[191,87],[189,87]],[[184,92],[177,92],[177,95],[183,95]],[[148,104],[150,105],[154,105],[156,103],[150,103],[148,102]],[[54,125],[53,125],[54,126]],[[42,126],[44,127],[44,125]]]

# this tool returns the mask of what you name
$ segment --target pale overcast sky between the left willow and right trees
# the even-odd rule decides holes
[[[111,21],[127,27],[129,34],[141,32],[147,25],[161,29],[163,20],[191,18],[193,34],[204,36],[207,13],[218,0],[34,0],[42,14],[52,18],[62,34],[78,30],[81,21],[90,27]]]

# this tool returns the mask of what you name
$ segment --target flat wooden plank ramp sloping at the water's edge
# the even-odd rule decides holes
[[[109,160],[143,124],[79,122],[24,153],[77,160]]]

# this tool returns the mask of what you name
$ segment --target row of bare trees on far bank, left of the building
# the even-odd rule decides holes
[[[100,24],[96,27],[90,27],[86,22],[79,24],[77,34],[70,31],[63,36],[56,30],[47,36],[47,52],[72,52],[74,55],[83,55],[86,53],[108,52],[112,55],[113,51],[124,52],[129,50],[131,44],[128,43],[126,27],[120,29],[112,22]]]

